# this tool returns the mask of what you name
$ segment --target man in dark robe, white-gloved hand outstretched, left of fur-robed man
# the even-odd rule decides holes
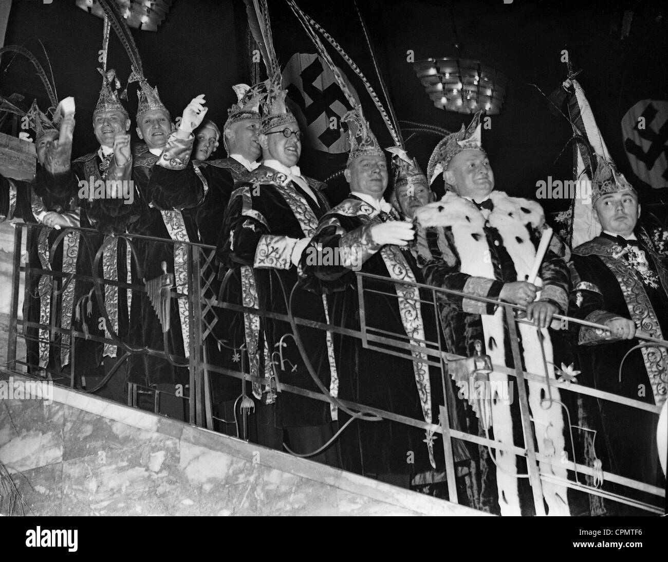
[[[411,224],[398,220],[383,199],[387,162],[375,136],[357,108],[343,119],[349,122],[351,150],[345,178],[350,194],[326,213],[302,255],[303,285],[327,294],[333,325],[361,329],[360,295],[355,271],[379,275],[387,283],[365,279],[364,314],[369,333],[397,342],[425,347],[438,341],[434,309],[428,295],[397,281],[424,282],[408,243],[415,235]],[[327,255],[335,255],[327,259]],[[369,291],[381,291],[376,294]],[[426,298],[420,302],[420,298]],[[374,344],[400,355],[368,349],[357,337],[334,334],[339,376],[338,396],[400,414],[438,423],[442,382],[438,368],[430,370],[428,356],[391,344]],[[403,358],[401,356],[404,356]],[[434,364],[434,358],[431,360]],[[436,359],[436,366],[440,358]],[[430,372],[431,371],[431,372]],[[339,408],[339,424],[349,414]],[[436,468],[442,460],[442,442],[431,431],[382,421],[355,420],[341,434],[343,468],[408,487],[413,474]],[[443,468],[442,462],[440,468]]]

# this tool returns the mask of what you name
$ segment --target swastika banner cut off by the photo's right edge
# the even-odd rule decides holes
[[[668,102],[642,100],[622,119],[633,172],[653,188],[668,187]]]

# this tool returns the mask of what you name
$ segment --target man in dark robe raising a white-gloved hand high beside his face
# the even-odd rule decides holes
[[[184,165],[192,150],[192,131],[202,122],[206,110],[203,96],[194,98],[186,106],[180,128],[174,130],[170,114],[146,80],[140,80],[137,110],[138,135],[145,144],[134,146],[132,178],[136,191],[133,206],[140,217],[129,228],[131,234],[139,234],[174,243],[162,243],[145,239],[132,239],[137,249],[139,271],[135,271],[135,283],[153,281],[166,271],[174,274],[174,289],[178,298],[170,298],[170,324],[165,337],[148,293],[135,291],[130,311],[130,343],[133,347],[148,347],[164,352],[166,358],[148,354],[132,354],[129,360],[130,383],[138,384],[143,392],[160,392],[160,412],[170,417],[186,419],[189,382],[188,358],[190,356],[190,310],[188,307],[188,275],[192,271],[188,263],[188,249],[178,242],[199,243],[196,225],[196,208],[204,198],[202,184],[185,186],[166,185],[154,181],[153,170]],[[141,275],[139,275],[141,273]],[[195,350],[200,353],[200,349]],[[152,395],[146,396],[152,402]],[[153,409],[153,404],[146,404]]]

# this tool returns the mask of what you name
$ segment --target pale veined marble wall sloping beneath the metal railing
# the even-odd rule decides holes
[[[0,398],[0,462],[26,515],[481,515],[55,386]]]

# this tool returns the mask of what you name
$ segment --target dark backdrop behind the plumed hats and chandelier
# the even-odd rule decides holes
[[[369,50],[359,27],[352,0],[301,1],[300,6],[321,23],[355,59],[377,88]],[[663,2],[608,1],[592,3],[558,0],[521,1],[361,1],[358,5],[370,30],[383,76],[400,119],[439,124],[449,130],[468,123],[470,116],[443,112],[432,105],[407,63],[415,59],[453,55],[454,43],[467,58],[498,67],[508,77],[504,106],[492,117],[492,129],[483,143],[492,160],[497,187],[511,194],[531,196],[536,181],[571,177],[572,152],[564,150],[570,125],[548,111],[546,100],[528,86],[537,84],[550,94],[565,77],[560,51],[568,49],[574,67],[582,68],[580,84],[591,102],[605,142],[619,168],[633,179],[621,136],[621,118],[639,100],[667,98],[668,23]],[[270,0],[275,43],[281,63],[295,51],[313,52],[301,26],[285,3]],[[621,39],[626,10],[633,11],[629,36]],[[232,84],[250,80],[246,56],[246,15],[241,0],[175,0],[157,33],[132,30],[150,82],[157,85],[172,117],[196,94],[204,93],[209,116],[224,122],[234,101]],[[33,52],[44,43],[59,98],[77,100],[75,155],[95,148],[90,118],[100,89],[98,49],[102,19],[77,8],[73,0],[50,5],[21,0],[13,3],[5,45],[24,43]],[[130,74],[128,59],[116,37],[110,40],[108,66],[124,82]],[[42,55],[38,55],[43,59]],[[37,97],[48,104],[39,80],[27,61],[17,57],[9,68],[3,57],[0,88],[3,94],[19,92],[27,100]],[[335,61],[343,64],[340,59]],[[363,96],[361,83],[353,84]],[[136,87],[130,87],[130,112],[136,110]],[[363,99],[381,144],[391,144],[373,107]],[[420,136],[409,150],[426,168],[437,142]],[[222,146],[216,156],[222,154]],[[345,159],[344,159],[345,160]],[[337,169],[341,158],[317,158],[305,151],[303,168],[316,178]],[[661,200],[664,190],[639,186],[643,200]],[[547,210],[565,201],[544,201]]]

